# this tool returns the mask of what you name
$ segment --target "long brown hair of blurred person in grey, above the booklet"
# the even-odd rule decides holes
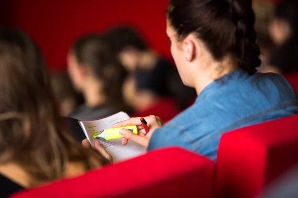
[[[109,40],[99,34],[90,34],[78,39],[72,50],[77,62],[89,66],[94,77],[102,80],[108,104],[116,111],[129,109],[122,95],[127,71],[113,55]]]

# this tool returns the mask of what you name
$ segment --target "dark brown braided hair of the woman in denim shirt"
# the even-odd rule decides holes
[[[194,33],[215,60],[230,55],[252,75],[261,60],[251,5],[252,0],[170,0],[167,20],[179,40]]]

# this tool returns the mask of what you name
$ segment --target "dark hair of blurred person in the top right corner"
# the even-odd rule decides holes
[[[298,34],[298,0],[282,0],[276,5],[275,17],[286,20],[292,30],[292,36]]]

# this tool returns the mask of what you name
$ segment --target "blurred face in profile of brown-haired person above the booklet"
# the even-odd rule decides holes
[[[82,89],[82,82],[84,81],[83,75],[81,72],[81,66],[78,64],[74,54],[69,52],[68,58],[68,73],[73,82],[74,88],[81,91]]]

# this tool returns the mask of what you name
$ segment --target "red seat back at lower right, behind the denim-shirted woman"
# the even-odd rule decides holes
[[[253,198],[298,162],[298,115],[245,127],[222,136],[217,195]]]

